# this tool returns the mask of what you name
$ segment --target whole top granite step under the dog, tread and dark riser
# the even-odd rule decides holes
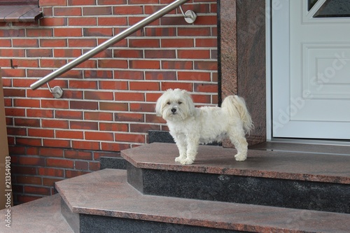
[[[173,143],[123,150],[127,181],[145,195],[350,213],[350,156],[200,146],[194,164],[174,162]]]

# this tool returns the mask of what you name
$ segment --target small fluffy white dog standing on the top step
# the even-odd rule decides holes
[[[155,112],[167,121],[170,134],[179,148],[176,162],[192,164],[199,143],[211,143],[230,138],[237,149],[237,161],[246,160],[248,143],[245,134],[253,127],[244,99],[226,97],[219,107],[195,108],[186,90],[169,89],[158,99]]]

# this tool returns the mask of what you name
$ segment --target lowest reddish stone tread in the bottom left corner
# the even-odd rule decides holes
[[[7,209],[0,211],[5,216]],[[1,221],[0,232],[73,233],[61,214],[61,197],[53,195],[10,208],[11,225]],[[4,219],[4,218],[2,218]]]

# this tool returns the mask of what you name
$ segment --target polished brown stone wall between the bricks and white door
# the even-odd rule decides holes
[[[266,141],[265,0],[218,0],[218,30],[221,97],[244,97],[255,125],[248,143]]]

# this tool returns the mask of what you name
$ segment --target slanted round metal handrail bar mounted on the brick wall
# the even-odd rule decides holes
[[[74,67],[78,66],[79,64],[85,62],[87,59],[90,59],[94,55],[97,55],[97,53],[102,52],[106,48],[109,48],[111,45],[123,40],[123,38],[130,36],[135,31],[138,31],[139,29],[147,26],[151,22],[158,20],[163,15],[166,15],[167,13],[178,8],[179,6],[181,6],[183,3],[186,3],[187,1],[189,1],[189,0],[176,0],[172,3],[170,3],[169,5],[158,10],[157,12],[153,13],[152,15],[149,15],[148,17],[144,18],[144,20],[141,20],[137,24],[132,25],[132,27],[129,27],[129,28],[125,29],[124,31],[120,32],[118,35],[113,36],[108,41],[105,41],[101,45],[98,45],[97,47],[86,52],[85,54],[81,55],[80,57],[73,59],[73,61],[65,64],[64,66],[57,69],[56,71],[53,71],[52,73],[48,74],[44,78],[37,80],[35,83],[30,85],[30,88],[32,90],[36,90],[38,87],[41,87],[45,83],[48,83],[50,80],[62,75],[62,73],[66,73],[66,71],[73,69]]]

